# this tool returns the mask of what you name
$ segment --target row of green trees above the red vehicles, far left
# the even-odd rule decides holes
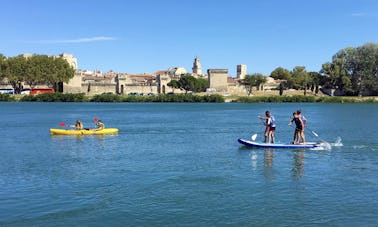
[[[35,87],[44,84],[59,90],[58,84],[73,78],[75,70],[60,57],[32,55],[6,58],[0,54],[0,81],[6,80],[16,93],[22,84]]]

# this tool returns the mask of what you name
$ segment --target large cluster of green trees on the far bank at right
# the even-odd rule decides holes
[[[278,67],[270,76],[285,80],[281,84],[283,89],[309,89],[317,93],[321,86],[342,95],[378,95],[378,44],[342,49],[319,72],[307,72],[303,66],[291,71]]]

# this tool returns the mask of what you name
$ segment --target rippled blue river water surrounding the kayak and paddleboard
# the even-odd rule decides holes
[[[325,150],[246,148],[269,109]],[[377,104],[0,103],[0,226],[376,226]],[[50,136],[93,118],[116,136]],[[342,141],[336,141],[341,138]],[[307,140],[317,138],[307,133]]]

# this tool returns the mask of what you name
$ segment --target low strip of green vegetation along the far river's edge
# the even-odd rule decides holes
[[[84,94],[40,94],[40,95],[8,95],[0,94],[0,101],[5,102],[318,102],[318,103],[376,103],[378,97],[330,97],[330,96],[228,96],[213,95],[154,95],[154,96],[129,96],[102,94],[86,96]]]

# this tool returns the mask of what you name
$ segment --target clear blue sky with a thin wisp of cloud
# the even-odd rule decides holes
[[[72,54],[82,70],[153,73],[322,64],[378,42],[377,0],[0,0],[0,54]]]

